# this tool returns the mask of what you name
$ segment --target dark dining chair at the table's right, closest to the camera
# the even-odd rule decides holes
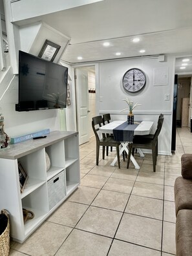
[[[129,144],[129,155],[127,159],[127,168],[129,168],[129,162],[131,157],[131,149],[132,155],[134,155],[134,149],[151,149],[152,150],[152,158],[153,158],[153,171],[156,171],[156,159],[158,156],[158,135],[162,129],[162,125],[164,123],[164,116],[160,116],[158,118],[158,125],[155,131],[155,134],[151,134],[150,136],[138,135],[133,137],[133,143]]]

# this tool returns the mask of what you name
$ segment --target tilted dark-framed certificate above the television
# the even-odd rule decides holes
[[[59,45],[56,45],[56,43],[52,43],[46,39],[38,57],[47,59],[48,61],[54,61],[54,58],[56,58],[56,55],[58,54],[59,48],[61,48]]]

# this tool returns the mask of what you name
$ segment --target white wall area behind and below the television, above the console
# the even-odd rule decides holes
[[[51,131],[59,129],[58,109],[17,112],[16,103],[18,103],[18,78],[14,76],[0,101],[2,114],[5,117],[5,131],[9,136],[19,136],[47,128]]]

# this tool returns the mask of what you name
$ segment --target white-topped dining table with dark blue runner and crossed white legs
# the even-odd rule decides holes
[[[134,124],[128,124],[125,120],[115,120],[106,125],[100,127],[101,133],[114,134],[114,139],[120,141],[122,148],[120,149],[120,155],[123,151],[129,154],[128,145],[133,142],[134,135],[147,135],[151,132],[153,127],[153,121],[141,121],[134,122]],[[137,149],[140,156],[144,157],[144,153],[141,149]],[[140,169],[140,165],[136,162],[134,156],[131,154],[130,158],[133,162],[135,169]],[[117,156],[112,161],[111,165],[114,166],[117,161]]]

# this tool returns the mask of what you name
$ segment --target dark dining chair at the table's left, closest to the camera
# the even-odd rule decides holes
[[[120,169],[120,151],[119,151],[120,142],[114,140],[114,138],[105,136],[104,133],[102,133],[102,138],[100,138],[98,132],[100,131],[100,127],[102,125],[103,125],[102,116],[95,116],[92,118],[92,129],[96,136],[96,165],[99,164],[100,146],[103,147],[103,159],[105,159],[105,147],[116,147],[118,167]]]

